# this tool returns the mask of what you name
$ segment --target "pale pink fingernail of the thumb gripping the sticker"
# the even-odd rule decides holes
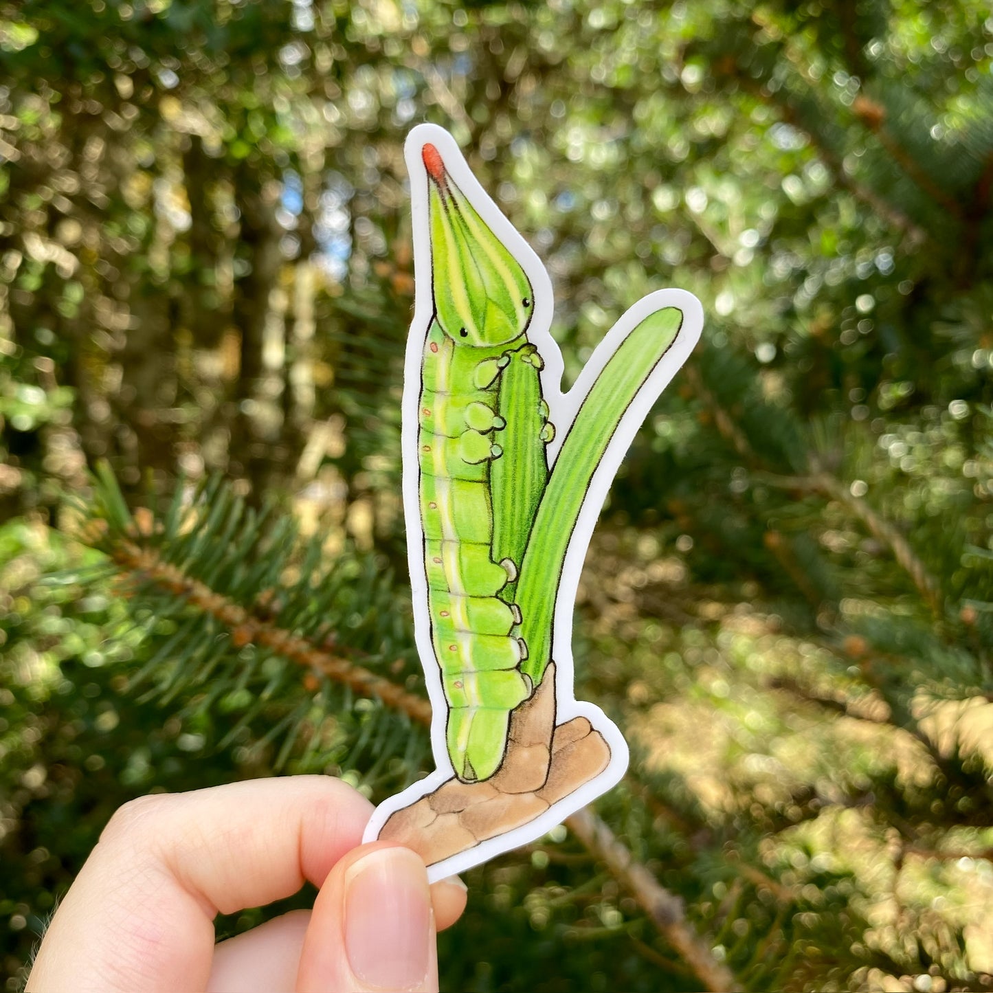
[[[431,897],[427,871],[407,848],[379,848],[345,876],[345,950],[355,978],[382,990],[423,985]]]

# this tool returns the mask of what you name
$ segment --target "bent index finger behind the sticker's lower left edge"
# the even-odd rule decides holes
[[[45,935],[43,990],[205,989],[213,918],[320,886],[372,805],[324,776],[145,796],[110,819]]]

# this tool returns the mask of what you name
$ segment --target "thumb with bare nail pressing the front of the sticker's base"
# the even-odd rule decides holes
[[[409,849],[381,841],[355,848],[321,887],[297,991],[334,990],[438,990],[427,870]]]

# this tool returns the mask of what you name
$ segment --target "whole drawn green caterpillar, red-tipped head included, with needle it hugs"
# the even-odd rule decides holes
[[[513,596],[554,428],[527,341],[527,276],[435,146],[422,156],[434,295],[417,442],[428,612],[449,758],[459,779],[486,780],[503,758],[510,712],[534,688],[521,670],[528,647]]]

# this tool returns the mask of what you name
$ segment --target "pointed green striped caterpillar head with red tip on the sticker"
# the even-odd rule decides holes
[[[527,329],[531,284],[452,182],[434,145],[421,150],[428,171],[432,292],[442,330],[457,345],[504,345]]]

